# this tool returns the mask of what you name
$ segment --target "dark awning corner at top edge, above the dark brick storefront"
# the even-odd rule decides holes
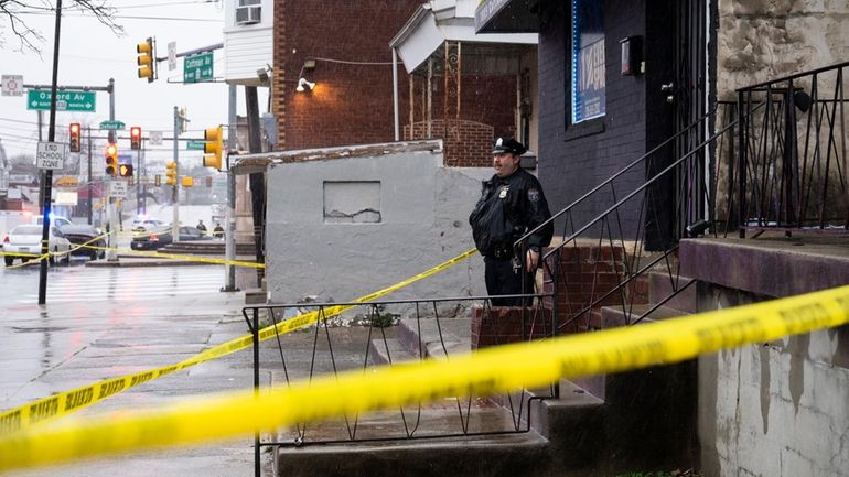
[[[541,0],[481,0],[474,12],[477,33],[536,33]]]

